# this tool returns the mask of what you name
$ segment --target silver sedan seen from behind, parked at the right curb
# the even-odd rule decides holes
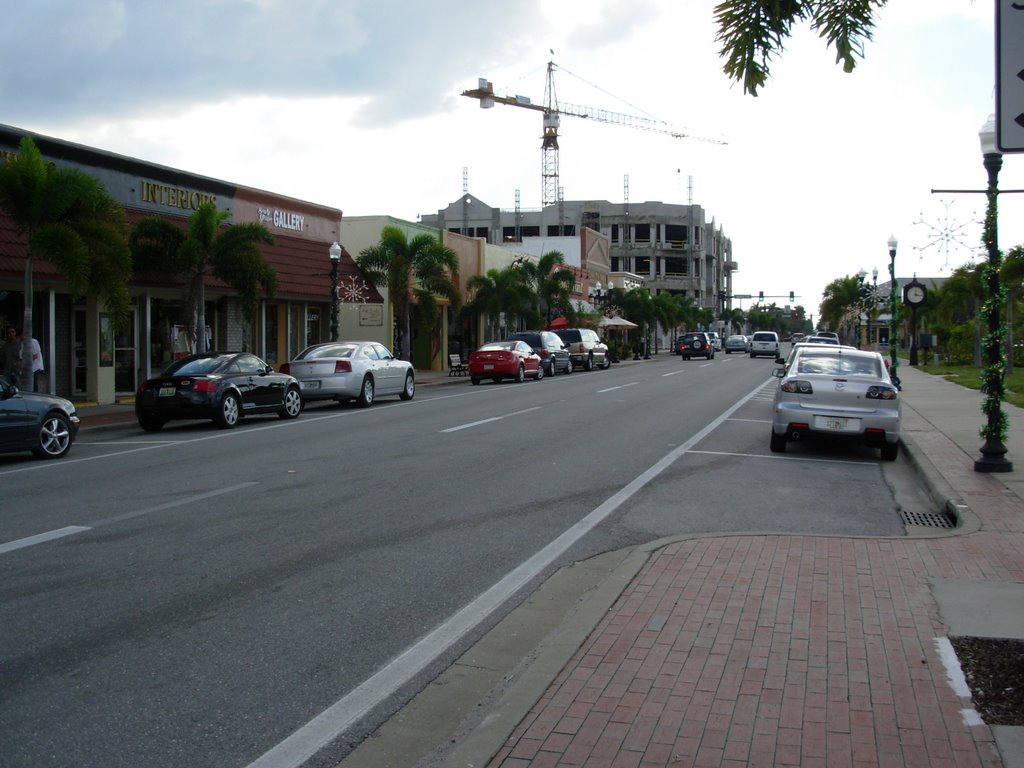
[[[810,345],[774,375],[781,379],[772,407],[774,453],[791,440],[826,435],[876,446],[886,461],[899,455],[899,389],[878,352]]]

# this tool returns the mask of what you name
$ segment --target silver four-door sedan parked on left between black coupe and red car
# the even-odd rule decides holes
[[[313,344],[281,370],[299,380],[306,401],[354,398],[370,408],[378,397],[396,394],[411,400],[416,394],[413,364],[399,360],[376,341]]]

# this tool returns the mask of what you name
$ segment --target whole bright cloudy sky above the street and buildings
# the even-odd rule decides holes
[[[713,0],[0,0],[0,123],[340,208],[416,220],[469,190],[541,205],[541,116],[461,96],[649,117],[726,144],[562,119],[566,200],[701,205],[736,293],[816,315],[863,269],[976,258],[978,129],[994,111],[993,0],[890,0],[851,74],[809,29],[758,97],[722,73]],[[553,51],[553,53],[552,53]],[[1024,188],[1007,155],[1002,188]],[[1000,199],[1024,244],[1024,194]],[[746,307],[750,302],[743,302]]]

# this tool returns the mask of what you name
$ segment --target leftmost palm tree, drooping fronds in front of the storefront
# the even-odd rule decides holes
[[[74,297],[96,296],[123,328],[129,317],[131,252],[124,208],[99,179],[43,159],[31,137],[0,163],[0,210],[28,241],[22,338],[33,338],[33,275],[36,258],[53,264]],[[32,381],[32,360],[23,355],[22,381]]]

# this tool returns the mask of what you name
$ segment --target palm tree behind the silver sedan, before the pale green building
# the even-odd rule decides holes
[[[459,306],[459,257],[455,251],[423,232],[412,240],[394,225],[381,229],[376,246],[365,248],[355,263],[378,288],[387,288],[395,317],[395,346],[401,359],[412,359],[412,304],[416,299],[420,325],[432,328],[440,312],[437,297]]]

